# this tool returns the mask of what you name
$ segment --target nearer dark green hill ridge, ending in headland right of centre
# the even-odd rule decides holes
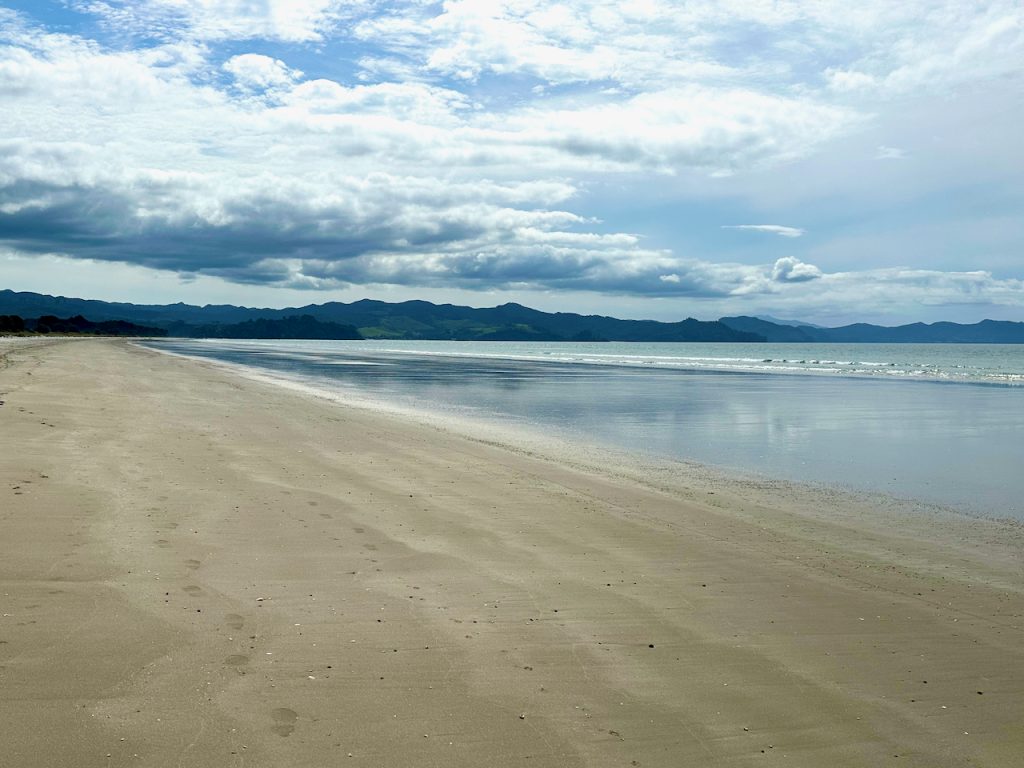
[[[227,333],[224,327],[250,321],[281,321],[308,315],[321,323],[354,327],[366,338],[459,339],[489,341],[762,341],[718,322],[627,321],[602,315],[541,312],[520,304],[475,309],[428,301],[387,303],[369,299],[329,302],[287,309],[231,305],[142,305],[0,291],[0,313],[75,312],[93,319],[123,319],[166,329],[172,335]],[[257,327],[250,327],[254,332]],[[220,329],[217,331],[217,329]],[[234,333],[231,331],[230,333]],[[238,337],[230,337],[238,338]],[[274,337],[292,338],[292,337]],[[318,337],[317,337],[318,338]]]

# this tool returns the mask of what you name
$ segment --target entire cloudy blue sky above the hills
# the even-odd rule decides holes
[[[0,288],[1024,321],[1024,5],[0,0]]]

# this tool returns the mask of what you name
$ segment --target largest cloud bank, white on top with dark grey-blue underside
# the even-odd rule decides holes
[[[220,66],[240,95],[209,84],[212,69],[187,43],[11,35],[3,240],[240,283],[660,290],[662,255],[564,209],[573,174],[735,172],[800,156],[845,119],[696,87],[494,113],[428,83],[304,80],[256,53]],[[247,95],[261,90],[273,98]]]

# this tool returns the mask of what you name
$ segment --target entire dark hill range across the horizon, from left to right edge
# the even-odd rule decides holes
[[[720,341],[825,343],[1024,343],[1024,323],[982,321],[913,323],[887,327],[857,323],[822,328],[795,321],[734,316],[677,323],[620,319],[572,312],[542,312],[521,304],[474,308],[428,301],[388,303],[364,299],[270,309],[231,304],[130,304],[0,290],[0,314],[82,315],[89,321],[125,321],[162,329],[169,336],[241,338],[249,332],[296,336],[305,328],[325,338],[324,326],[345,327],[329,338],[457,339],[475,341]],[[311,318],[311,319],[310,319]],[[265,322],[264,322],[265,321]],[[267,323],[272,321],[273,323]],[[301,321],[301,323],[300,323]],[[351,332],[355,333],[351,333]]]

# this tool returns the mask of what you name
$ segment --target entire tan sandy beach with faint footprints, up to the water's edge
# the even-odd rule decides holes
[[[1024,763],[1020,525],[6,351],[0,765]]]

